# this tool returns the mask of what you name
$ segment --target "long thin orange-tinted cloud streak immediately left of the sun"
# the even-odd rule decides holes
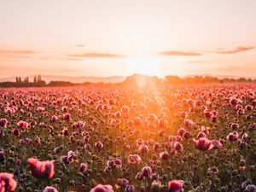
[[[119,57],[124,57],[125,55],[92,52],[92,53],[83,53],[83,54],[69,54],[67,56],[71,58],[119,58]]]

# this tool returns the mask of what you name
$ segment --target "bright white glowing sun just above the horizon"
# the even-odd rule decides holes
[[[139,56],[126,61],[130,73],[139,73],[150,76],[157,76],[160,73],[160,58]]]

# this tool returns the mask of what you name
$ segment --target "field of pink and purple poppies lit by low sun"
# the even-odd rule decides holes
[[[0,192],[255,192],[256,84],[0,90]]]

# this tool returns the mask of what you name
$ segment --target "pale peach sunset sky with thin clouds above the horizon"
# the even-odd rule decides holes
[[[256,77],[255,0],[1,0],[0,78]]]

